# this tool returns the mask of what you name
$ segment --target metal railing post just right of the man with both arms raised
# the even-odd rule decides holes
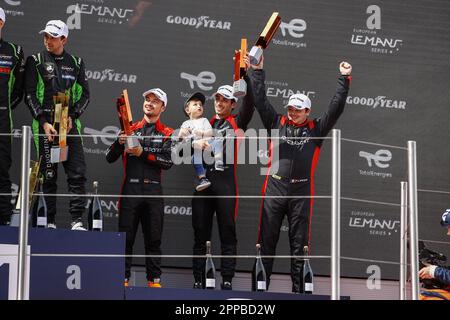
[[[341,258],[341,131],[332,130],[331,169],[331,299],[339,300]]]

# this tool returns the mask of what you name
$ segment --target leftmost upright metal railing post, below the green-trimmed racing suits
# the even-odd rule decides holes
[[[20,185],[22,197],[20,199],[20,225],[19,225],[19,259],[17,271],[17,300],[23,300],[26,292],[27,274],[27,247],[28,247],[28,199],[29,199],[29,170],[30,170],[30,144],[31,128],[22,127],[22,169]]]

